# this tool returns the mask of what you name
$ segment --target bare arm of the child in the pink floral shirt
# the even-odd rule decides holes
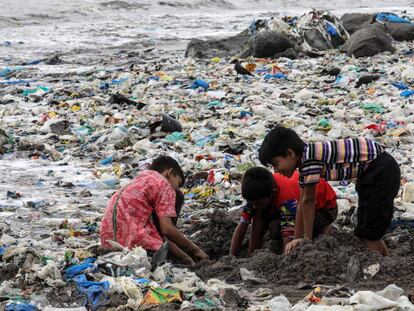
[[[204,253],[197,245],[187,239],[178,229],[174,226],[171,217],[160,218],[160,231],[163,236],[168,240],[175,243],[178,247],[184,251],[189,251],[197,259],[209,259],[208,255]]]

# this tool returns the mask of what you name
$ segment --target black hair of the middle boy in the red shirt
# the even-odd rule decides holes
[[[247,201],[256,201],[272,195],[276,189],[273,175],[264,167],[248,169],[242,179],[242,196]]]

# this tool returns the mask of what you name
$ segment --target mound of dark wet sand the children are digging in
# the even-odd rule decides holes
[[[214,232],[210,234],[214,236]],[[391,252],[388,257],[366,250],[352,232],[337,229],[313,242],[303,242],[289,255],[263,249],[250,258],[225,256],[201,264],[195,270],[204,280],[218,278],[240,283],[240,268],[246,268],[267,280],[262,286],[272,288],[323,284],[375,290],[395,283],[411,290],[413,275],[408,271],[414,266],[412,232],[394,231],[387,234],[385,241]],[[364,273],[368,267],[378,264],[379,271],[375,275]]]

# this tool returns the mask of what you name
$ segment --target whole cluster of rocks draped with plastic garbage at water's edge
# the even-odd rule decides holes
[[[326,10],[313,10],[301,16],[255,20],[229,38],[193,39],[185,55],[204,59],[215,55],[297,59],[339,49],[349,56],[366,57],[394,52],[393,40],[414,40],[414,22],[408,16],[378,12],[350,13],[339,18]]]

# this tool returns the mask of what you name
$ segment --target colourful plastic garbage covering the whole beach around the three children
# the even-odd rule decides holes
[[[331,23],[340,27],[338,19]],[[387,243],[404,242],[401,237],[407,235],[398,230],[414,228],[414,46],[392,41],[392,47],[392,52],[360,58],[335,49],[318,58],[251,57],[242,63],[251,75],[243,77],[225,55],[183,59],[157,49],[117,51],[100,65],[82,67],[65,55],[2,64],[0,167],[6,174],[0,177],[0,300],[6,310],[162,304],[184,310],[328,308],[310,302],[410,310],[402,290],[393,286],[380,293],[347,289],[330,302],[324,297],[338,291],[320,286],[320,300],[291,307],[279,297],[282,292],[257,285],[254,294],[249,290],[248,282],[262,286],[266,276],[249,266],[249,259],[231,259],[224,267],[230,271],[226,279],[220,261],[230,260],[222,256],[243,204],[241,176],[259,164],[257,149],[275,124],[294,128],[309,141],[362,135],[384,144],[401,165],[404,189],[396,202],[394,238]],[[195,270],[156,267],[140,248],[103,254],[97,244],[108,198],[160,154],[175,157],[186,172],[179,227],[218,261]],[[349,232],[357,206],[354,186],[332,185],[339,198],[338,230]],[[222,214],[212,216],[214,211]],[[410,243],[398,250],[400,258],[412,253]],[[292,271],[288,257],[272,256],[279,260],[275,267]],[[354,270],[377,262],[360,262]],[[352,268],[352,263],[347,258],[345,264]],[[383,281],[394,276],[384,267],[377,274]],[[314,279],[312,273],[307,282]],[[336,285],[323,275],[321,280]],[[375,276],[369,281],[374,283]],[[410,290],[399,279],[388,281]],[[286,283],[273,284],[283,291]]]

